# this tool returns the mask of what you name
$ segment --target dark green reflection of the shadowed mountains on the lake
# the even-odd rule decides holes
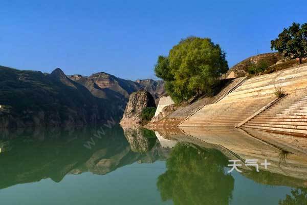
[[[33,139],[34,133],[43,136],[40,141],[37,137]],[[92,149],[83,145],[94,136],[95,129],[34,133],[12,133],[15,139],[1,142],[1,145],[9,143],[10,150],[0,153],[0,189],[45,178],[59,182],[67,174],[103,175],[136,161],[165,160],[168,154],[159,143],[147,153],[131,151],[119,127],[106,130],[101,139],[95,139]]]

